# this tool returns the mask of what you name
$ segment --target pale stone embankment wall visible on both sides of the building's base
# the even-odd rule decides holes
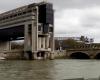
[[[50,55],[48,55],[49,57]],[[56,50],[53,54],[54,59],[64,59],[66,57],[66,51],[59,51]],[[0,59],[9,59],[9,60],[20,60],[25,59],[25,54],[22,50],[14,50],[14,51],[1,51],[0,52]]]

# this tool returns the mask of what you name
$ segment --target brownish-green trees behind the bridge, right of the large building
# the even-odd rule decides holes
[[[93,39],[88,37],[81,36],[80,40],[66,39],[66,40],[55,40],[55,49],[60,49],[60,47],[65,49],[74,49],[74,48],[84,48],[93,43]]]

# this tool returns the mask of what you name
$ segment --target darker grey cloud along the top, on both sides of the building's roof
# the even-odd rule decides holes
[[[0,0],[0,9],[9,10],[29,3],[40,2],[43,0]],[[56,9],[64,8],[86,8],[99,6],[100,0],[48,0],[52,2]]]

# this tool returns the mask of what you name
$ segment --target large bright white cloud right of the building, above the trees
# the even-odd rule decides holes
[[[56,34],[66,36],[88,36],[100,42],[100,11],[98,7],[88,9],[65,9],[56,16]],[[59,16],[59,17],[58,17]],[[59,24],[58,24],[59,23]]]

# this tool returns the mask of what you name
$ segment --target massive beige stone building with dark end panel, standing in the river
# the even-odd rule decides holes
[[[53,4],[33,3],[0,14],[0,37],[2,51],[10,51],[10,41],[23,37],[25,56],[46,57],[54,51]]]

